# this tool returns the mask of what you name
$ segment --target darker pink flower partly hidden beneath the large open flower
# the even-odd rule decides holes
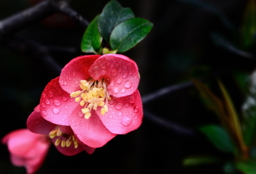
[[[92,154],[95,148],[88,147],[74,135],[70,126],[56,125],[44,119],[39,105],[29,115],[27,127],[34,133],[49,135],[56,149],[64,155],[72,156],[82,151]]]

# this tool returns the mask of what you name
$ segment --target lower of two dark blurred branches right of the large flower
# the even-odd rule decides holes
[[[154,124],[160,125],[161,127],[164,127],[166,129],[170,129],[172,131],[175,131],[180,134],[184,135],[194,135],[194,131],[188,128],[181,127],[179,125],[176,125],[174,123],[170,123],[168,121],[165,121],[158,116],[148,112],[148,111],[143,111],[144,112],[144,118],[152,121]]]

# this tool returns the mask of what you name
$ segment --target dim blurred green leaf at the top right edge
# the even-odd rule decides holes
[[[256,1],[248,0],[244,13],[244,24],[242,26],[242,35],[244,46],[247,48],[255,41],[256,34]]]

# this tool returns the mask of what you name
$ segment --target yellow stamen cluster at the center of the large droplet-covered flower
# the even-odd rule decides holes
[[[104,115],[105,112],[108,111],[108,100],[111,100],[104,79],[94,80],[89,78],[88,81],[81,80],[80,83],[82,90],[72,92],[70,97],[76,97],[76,102],[79,102],[82,98],[80,105],[84,106],[84,108],[81,109],[84,118],[88,119],[91,116],[90,111],[92,109],[97,110],[98,106],[102,106],[101,114]]]

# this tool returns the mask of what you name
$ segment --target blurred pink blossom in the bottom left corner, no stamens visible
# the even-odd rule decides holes
[[[12,164],[24,166],[27,173],[32,174],[42,165],[50,147],[50,138],[28,129],[18,129],[4,136],[2,143],[8,147]]]

